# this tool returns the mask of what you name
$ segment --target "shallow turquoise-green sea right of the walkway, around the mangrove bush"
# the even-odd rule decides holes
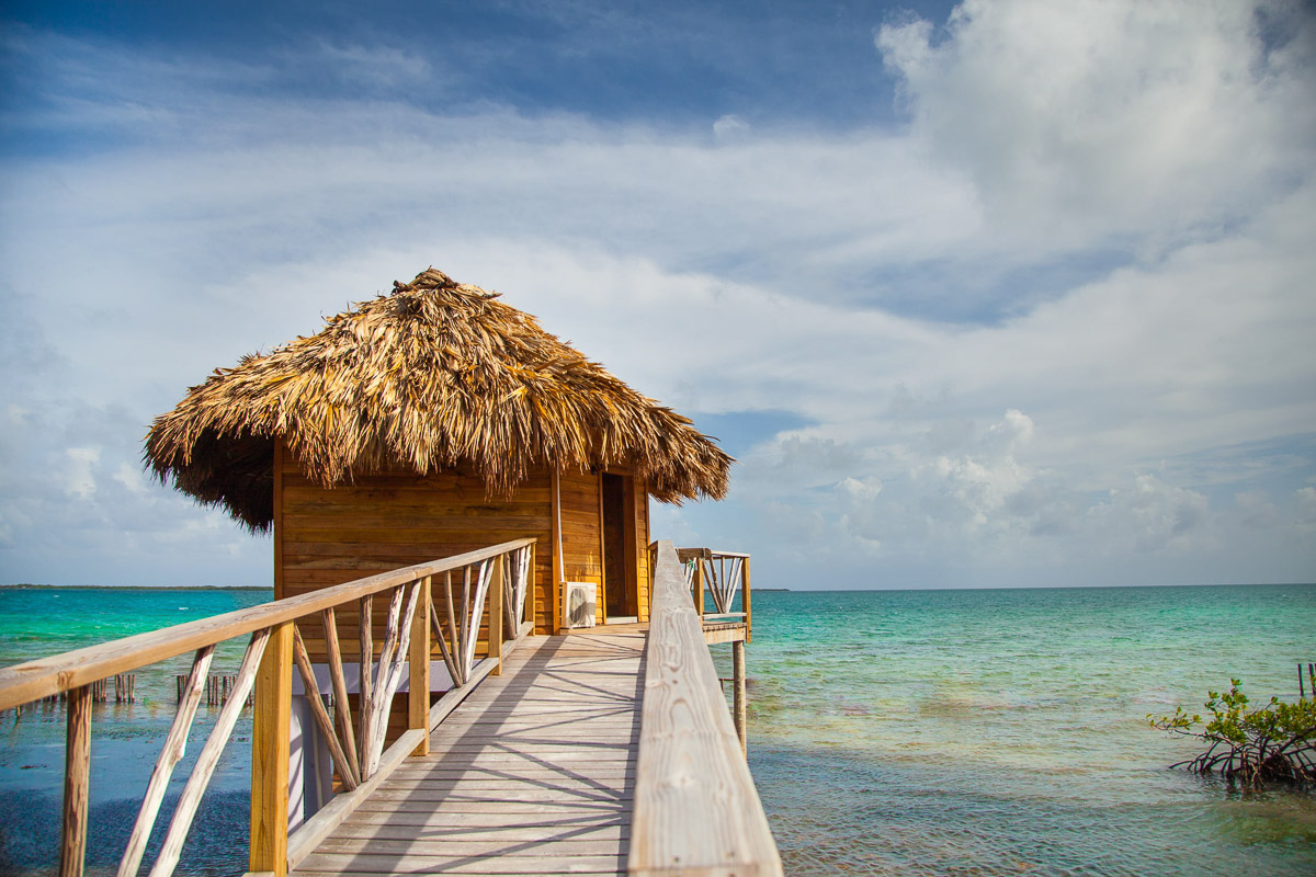
[[[788,874],[1313,874],[1316,798],[1170,770],[1144,718],[1299,660],[1316,586],[765,592],[750,767]]]

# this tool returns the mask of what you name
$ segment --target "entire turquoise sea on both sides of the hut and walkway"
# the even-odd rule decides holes
[[[0,665],[268,598],[0,589]],[[1174,769],[1195,744],[1146,719],[1232,677],[1296,698],[1316,585],[757,590],[746,651],[749,764],[787,874],[1316,874],[1312,792]],[[117,863],[186,669],[96,707],[91,873]],[[58,705],[0,714],[0,873],[55,872],[62,735]],[[234,738],[179,873],[245,870],[250,724]]]

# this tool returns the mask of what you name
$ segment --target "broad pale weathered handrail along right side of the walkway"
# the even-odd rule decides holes
[[[630,874],[782,874],[670,542],[657,543],[634,794]]]

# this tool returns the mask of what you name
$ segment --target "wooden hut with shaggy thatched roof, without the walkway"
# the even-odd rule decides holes
[[[562,627],[569,581],[597,585],[600,623],[647,621],[649,497],[721,498],[732,463],[534,317],[433,268],[215,371],[155,419],[146,460],[272,529],[275,598],[534,536],[541,634]]]

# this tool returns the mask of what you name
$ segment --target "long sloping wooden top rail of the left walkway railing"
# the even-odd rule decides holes
[[[371,597],[425,576],[461,569],[533,543],[533,538],[513,539],[442,560],[391,569],[308,594],[238,609],[222,615],[199,618],[172,627],[162,627],[99,646],[88,646],[0,668],[0,710],[8,710],[51,694],[61,694],[117,673],[175,657],[183,652],[320,613],[351,600]]]

